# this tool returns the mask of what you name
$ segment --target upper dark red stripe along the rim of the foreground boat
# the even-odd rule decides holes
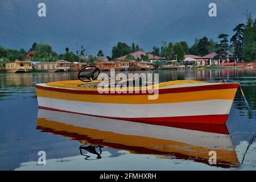
[[[164,93],[179,93],[179,92],[195,92],[203,90],[218,90],[218,89],[233,89],[238,88],[238,83],[228,83],[228,84],[217,84],[217,85],[201,85],[201,86],[187,86],[181,88],[168,88],[168,89],[159,89],[159,94]],[[75,93],[75,94],[105,94],[105,95],[143,95],[143,94],[155,94],[157,90],[147,90],[147,93],[98,93],[97,90],[73,90],[73,89],[63,89],[55,88],[49,86],[35,85],[37,89],[49,90],[55,92],[64,92],[64,93]],[[155,92],[154,92],[155,91]]]

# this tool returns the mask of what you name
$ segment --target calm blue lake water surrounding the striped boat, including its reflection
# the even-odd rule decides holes
[[[155,72],[160,82],[239,81],[256,110],[255,69]],[[256,122],[239,90],[226,127],[200,130],[38,110],[35,84],[76,79],[72,72],[0,73],[0,170],[256,169]],[[46,165],[38,165],[39,151],[46,152]],[[217,152],[216,164],[209,164],[210,151]]]

